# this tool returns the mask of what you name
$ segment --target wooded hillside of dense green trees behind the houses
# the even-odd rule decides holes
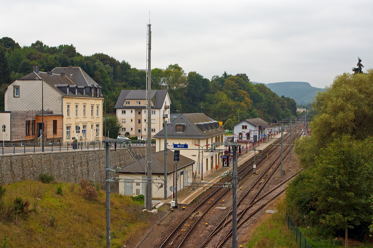
[[[110,55],[96,53],[83,56],[71,45],[48,46],[36,41],[30,46],[19,46],[13,39],[0,39],[1,91],[10,83],[32,71],[38,64],[40,71],[54,67],[81,67],[107,95],[107,112],[114,106],[121,90],[144,89],[147,74],[132,68],[128,61],[118,61]],[[216,75],[211,80],[191,71],[188,74],[178,64],[166,70],[151,71],[152,89],[160,89],[164,83],[171,97],[170,113],[195,113],[202,111],[211,118],[225,122],[231,118],[240,120],[260,117],[276,122],[296,114],[296,103],[289,97],[279,97],[264,84],[253,84],[246,74]],[[4,110],[4,94],[1,94],[0,110]],[[178,110],[178,111],[176,111]]]

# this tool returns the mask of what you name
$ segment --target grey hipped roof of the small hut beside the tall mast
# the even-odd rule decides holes
[[[195,161],[187,158],[180,154],[180,161],[178,162],[178,169],[184,168],[187,165],[194,164]],[[144,173],[145,174],[146,168],[146,160],[145,157],[132,162],[129,165],[122,167],[122,170],[118,170],[117,173]],[[164,173],[164,151],[154,152],[151,154],[151,173]],[[173,172],[173,151],[167,149],[167,174]]]

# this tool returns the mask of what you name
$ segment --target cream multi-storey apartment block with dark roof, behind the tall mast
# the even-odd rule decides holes
[[[151,137],[163,129],[163,121],[169,122],[170,96],[167,90],[151,91]],[[147,102],[145,90],[122,90],[115,104],[116,116],[122,123],[120,134],[146,138]]]

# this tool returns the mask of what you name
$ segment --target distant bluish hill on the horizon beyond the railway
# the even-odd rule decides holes
[[[325,91],[323,88],[312,87],[306,82],[279,82],[265,85],[278,96],[290,97],[297,104],[311,103],[315,99],[317,92]]]

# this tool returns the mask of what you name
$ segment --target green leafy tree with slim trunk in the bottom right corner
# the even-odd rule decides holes
[[[344,228],[345,247],[348,228],[372,222],[372,142],[344,135],[322,149],[316,161],[314,188],[320,222]]]

